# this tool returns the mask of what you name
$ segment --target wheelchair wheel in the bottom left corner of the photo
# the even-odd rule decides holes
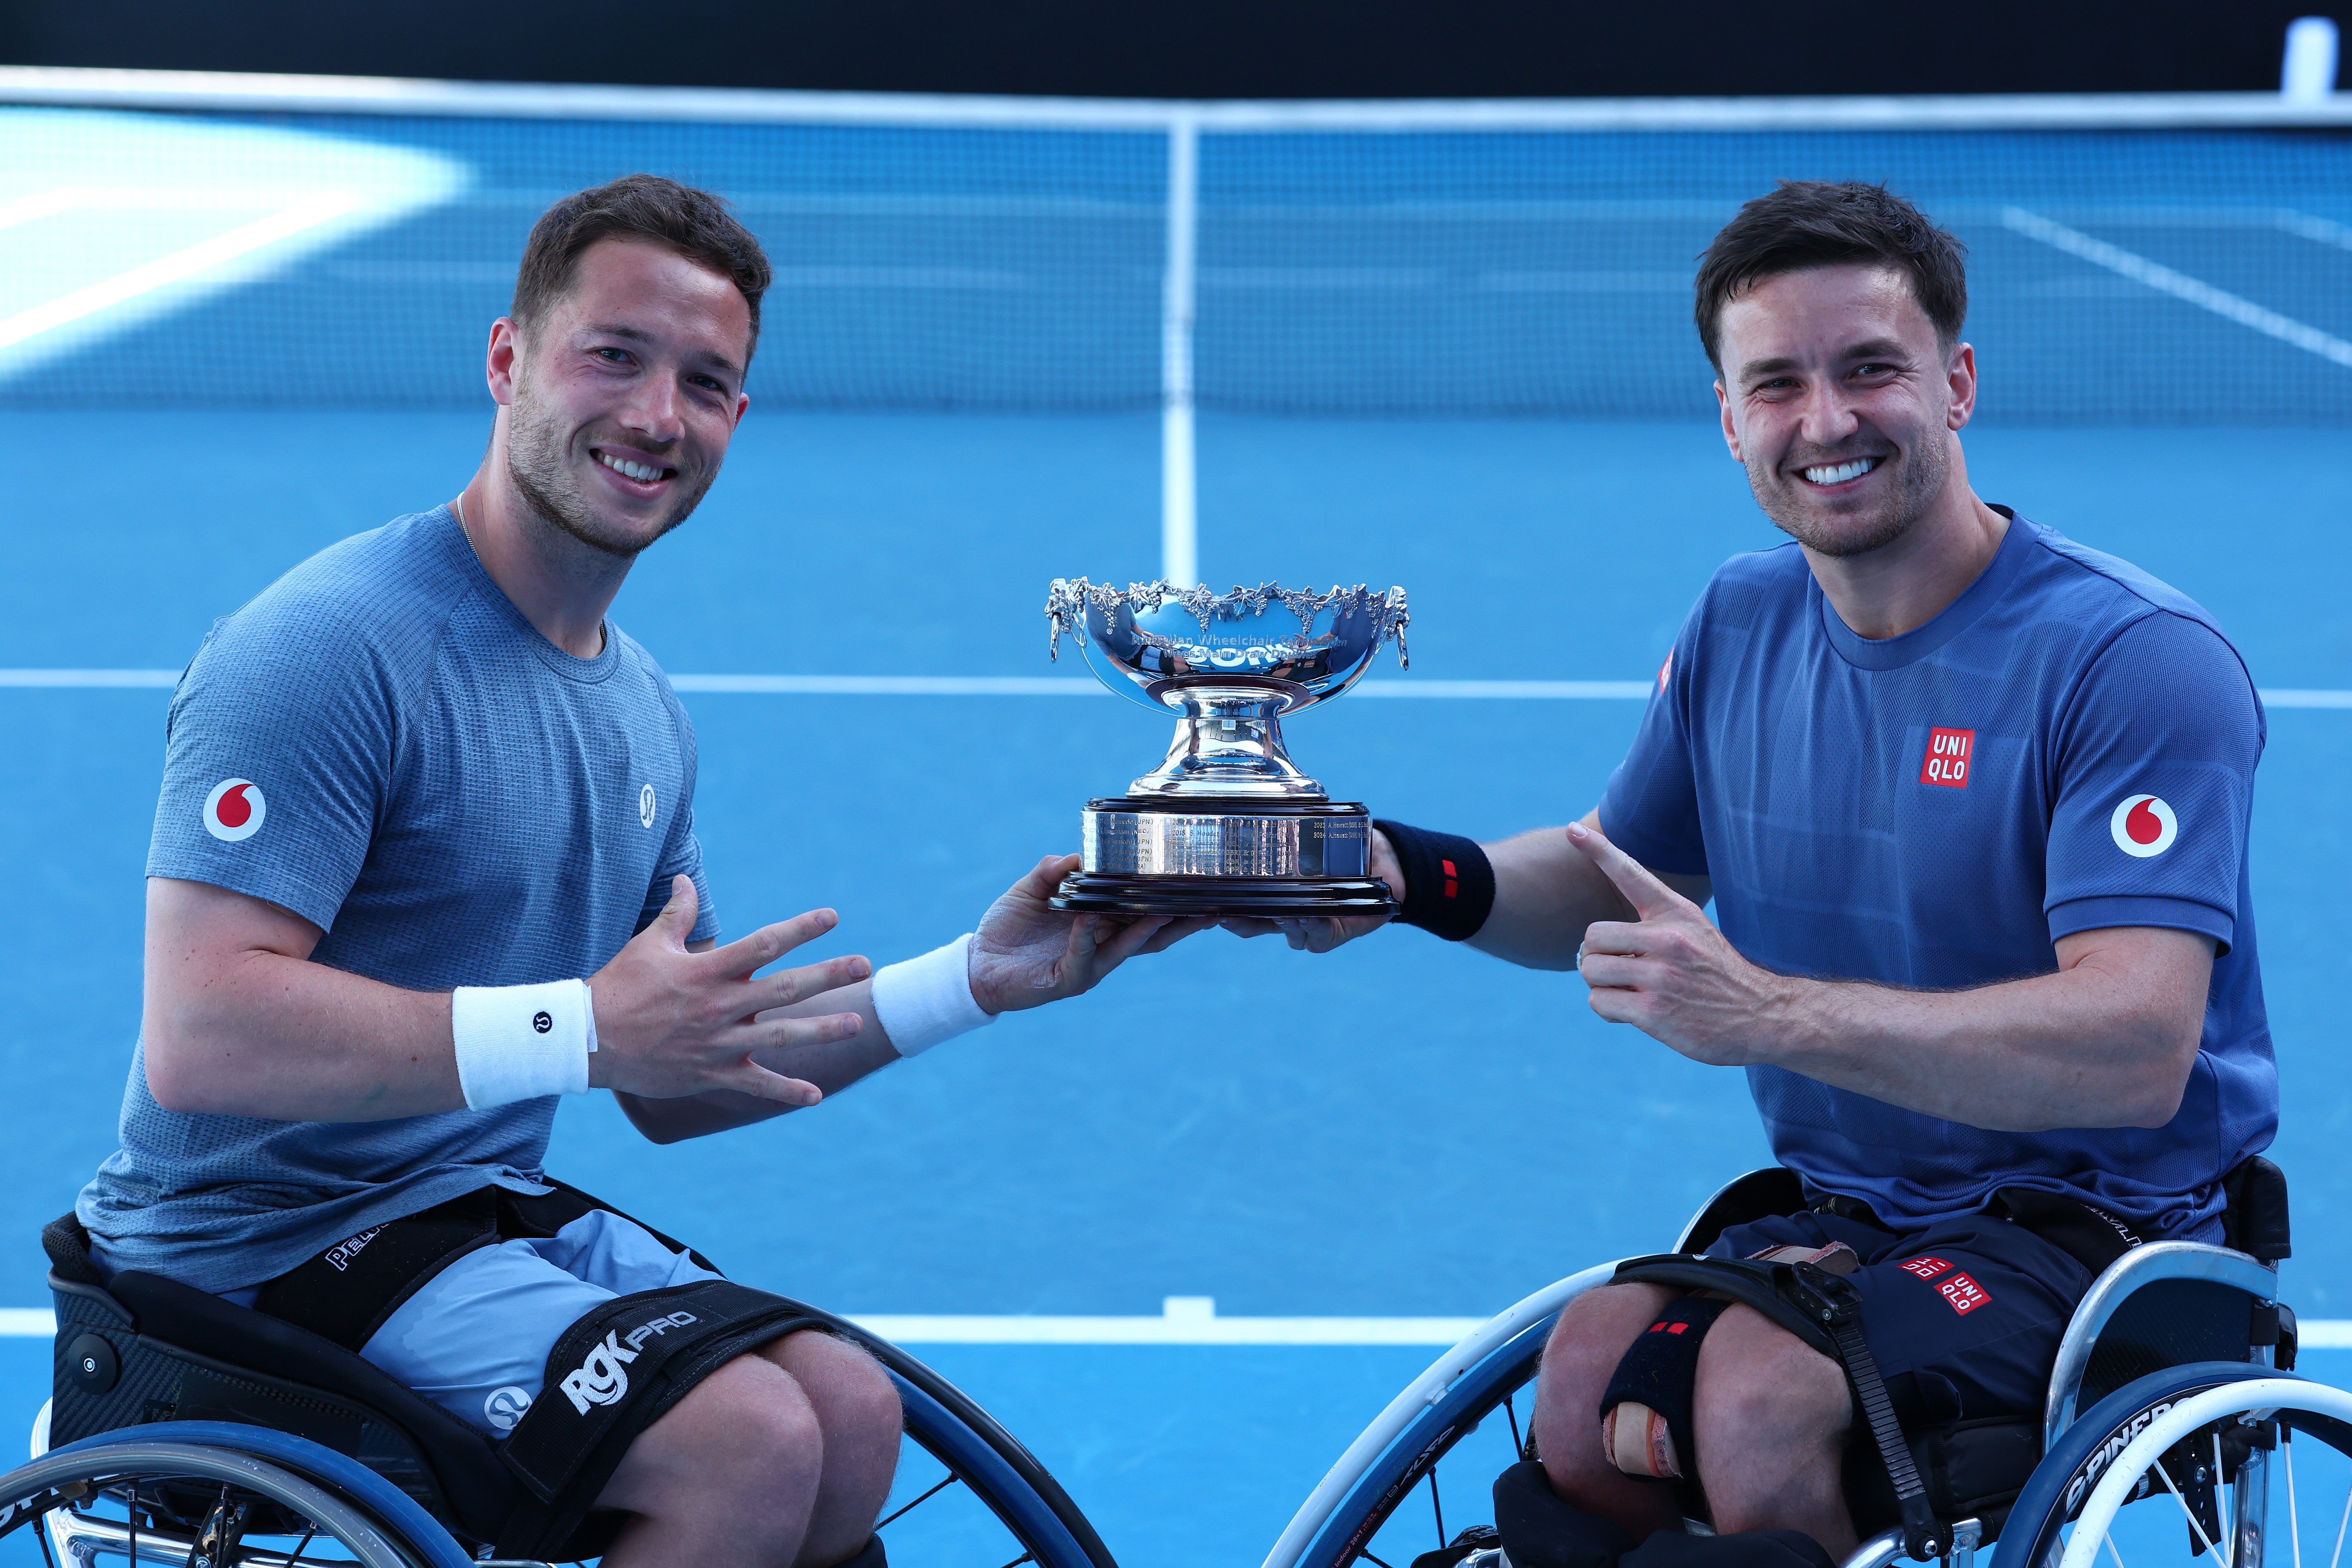
[[[42,1559],[188,1568],[468,1568],[390,1481],[332,1448],[228,1422],[158,1422],[68,1443],[0,1476],[0,1535]]]

